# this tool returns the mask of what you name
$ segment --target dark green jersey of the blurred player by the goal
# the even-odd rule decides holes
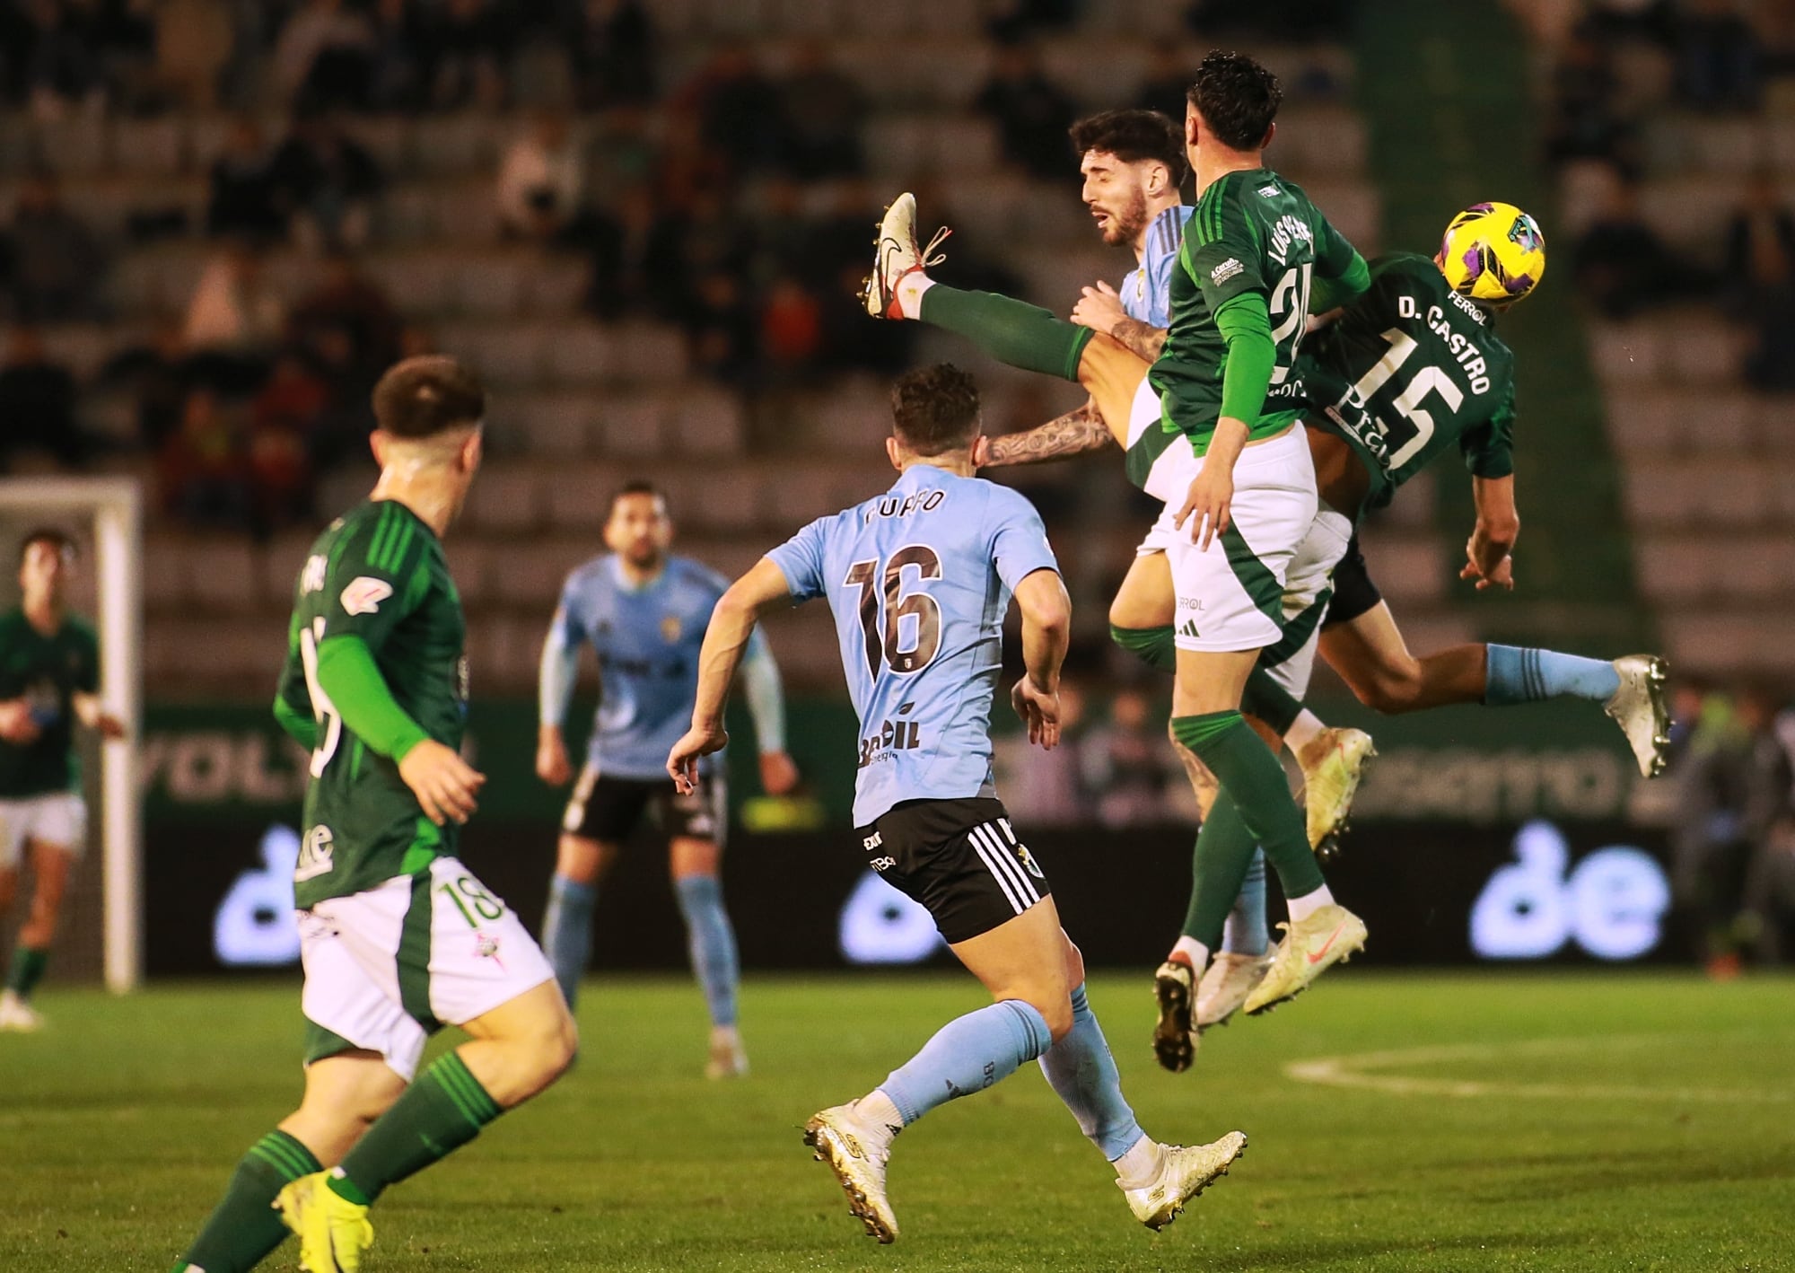
[[[75,695],[99,688],[101,643],[86,619],[66,614],[54,636],[43,636],[23,610],[0,614],[0,700],[23,698],[38,722],[34,742],[0,742],[0,799],[81,786]]]

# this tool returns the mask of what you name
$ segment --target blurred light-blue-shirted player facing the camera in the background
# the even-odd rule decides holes
[[[544,783],[560,786],[573,777],[562,722],[580,646],[598,654],[601,682],[585,768],[562,819],[542,944],[573,1005],[592,950],[598,883],[646,813],[668,837],[691,968],[711,1013],[705,1074],[723,1079],[749,1072],[736,1029],[736,932],[718,880],[729,830],[723,763],[722,756],[705,758],[698,790],[680,794],[666,776],[666,756],[691,720],[698,646],[729,582],[689,557],[670,557],[671,542],[666,496],[646,481],[626,483],[605,521],[610,553],[567,576],[542,645],[537,776]],[[741,682],[754,713],[761,785],[770,795],[784,795],[797,785],[797,767],[784,749],[779,666],[759,634],[749,646]]]

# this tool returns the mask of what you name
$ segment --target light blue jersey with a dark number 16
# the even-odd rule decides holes
[[[1059,571],[1041,515],[980,478],[910,465],[883,496],[766,555],[799,601],[826,596],[860,713],[854,826],[899,801],[993,795],[991,698],[1003,614]]]

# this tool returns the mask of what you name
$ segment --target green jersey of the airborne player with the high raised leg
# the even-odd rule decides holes
[[[1160,393],[1160,427],[1129,440],[1127,472],[1143,487],[1174,438],[1208,451],[1221,418],[1228,343],[1215,311],[1235,296],[1264,296],[1276,361],[1249,442],[1282,433],[1300,415],[1296,350],[1309,320],[1314,275],[1339,278],[1359,253],[1301,187],[1271,169],[1228,172],[1210,183],[1185,223],[1172,269],[1172,325],[1147,379]]]

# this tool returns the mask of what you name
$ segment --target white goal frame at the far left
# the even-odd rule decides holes
[[[136,743],[144,731],[144,528],[133,478],[5,478],[0,515],[84,517],[93,535],[93,623],[101,639],[101,702],[127,736],[101,747],[101,914],[106,988],[136,988],[144,975],[144,819]]]

